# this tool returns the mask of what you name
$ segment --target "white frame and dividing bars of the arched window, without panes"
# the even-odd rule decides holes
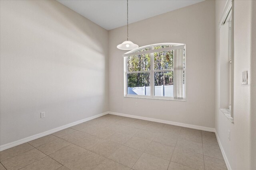
[[[166,47],[166,48],[161,48],[161,49],[154,49],[155,46],[162,46],[162,45],[174,45],[173,47]],[[150,47],[150,50],[148,51],[141,51],[141,52],[136,52],[141,49],[145,49]],[[162,51],[170,51],[170,50],[175,50],[175,49],[185,49],[185,68],[183,67],[184,70],[184,97],[183,99],[174,99],[174,97],[166,97],[166,96],[154,96],[154,72],[166,72],[166,71],[174,71],[174,69],[167,69],[167,70],[154,70],[154,53],[157,52],[162,52]],[[127,68],[127,57],[132,56],[132,55],[139,55],[139,54],[148,54],[150,53],[150,70],[146,71],[134,71],[134,72],[128,72]],[[178,101],[186,101],[186,45],[181,44],[181,43],[158,43],[158,44],[151,44],[151,45],[146,45],[143,47],[139,47],[137,49],[128,51],[123,55],[124,57],[124,97],[128,98],[146,98],[146,99],[160,99],[160,100],[178,100]],[[145,73],[149,72],[150,73],[150,96],[146,95],[131,95],[128,94],[128,87],[127,87],[127,74],[128,73]]]

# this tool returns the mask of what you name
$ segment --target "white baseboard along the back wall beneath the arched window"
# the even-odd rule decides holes
[[[135,119],[142,119],[142,120],[147,120],[147,121],[154,121],[154,122],[158,122],[158,123],[165,123],[165,124],[168,124],[168,125],[176,125],[176,126],[188,127],[188,128],[198,129],[198,130],[203,130],[203,131],[215,132],[215,128],[212,128],[212,127],[204,127],[204,126],[190,125],[190,124],[179,123],[179,122],[175,122],[175,121],[167,121],[167,120],[162,120],[162,119],[154,119],[154,118],[142,117],[142,116],[136,116],[136,115],[128,115],[128,114],[116,113],[116,112],[112,112],[112,111],[109,111],[108,113],[109,113],[109,114],[112,114],[112,115],[118,115],[118,116],[124,116],[124,117],[131,117],[131,118],[135,118]]]

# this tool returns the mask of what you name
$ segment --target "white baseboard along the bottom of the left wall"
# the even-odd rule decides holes
[[[63,125],[63,126],[60,126],[60,127],[56,127],[54,129],[51,129],[51,130],[48,130],[48,131],[45,131],[45,132],[42,132],[42,133],[38,133],[36,135],[32,135],[30,137],[26,137],[26,138],[23,138],[23,139],[20,139],[18,141],[14,141],[14,142],[11,142],[11,143],[6,143],[4,145],[0,145],[0,151],[2,150],[6,150],[6,149],[9,149],[11,147],[15,147],[17,145],[20,145],[22,143],[26,143],[26,142],[29,142],[29,141],[32,141],[34,139],[38,139],[40,137],[44,137],[46,135],[50,135],[54,132],[57,132],[57,131],[60,131],[60,130],[63,130],[63,129],[66,129],[68,127],[71,127],[71,126],[74,126],[74,125],[78,125],[80,123],[83,123],[83,122],[86,122],[86,121],[89,121],[89,120],[92,120],[92,119],[95,119],[97,117],[101,117],[103,115],[106,115],[108,114],[108,111],[105,112],[105,113],[100,113],[98,115],[94,115],[92,117],[88,117],[88,118],[85,118],[85,119],[82,119],[82,120],[79,120],[79,121],[75,121],[73,123],[68,123],[67,125]]]

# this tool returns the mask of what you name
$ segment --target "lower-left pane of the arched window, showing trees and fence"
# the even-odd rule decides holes
[[[150,73],[127,74],[127,94],[150,96]]]

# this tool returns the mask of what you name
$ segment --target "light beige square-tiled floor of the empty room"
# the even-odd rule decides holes
[[[116,115],[0,152],[0,170],[226,170],[212,132]]]

